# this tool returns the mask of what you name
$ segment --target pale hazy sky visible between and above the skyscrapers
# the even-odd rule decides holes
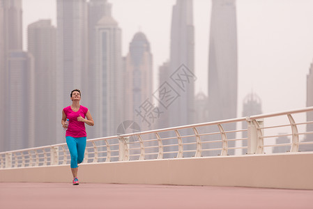
[[[56,25],[56,0],[22,0],[26,27],[40,19]],[[122,29],[123,56],[137,31],[151,43],[153,70],[169,59],[175,0],[108,0]],[[238,117],[247,93],[257,93],[264,113],[306,106],[306,76],[313,61],[312,0],[237,0]],[[211,0],[194,0],[196,91],[207,94]],[[155,88],[158,83],[155,83]]]

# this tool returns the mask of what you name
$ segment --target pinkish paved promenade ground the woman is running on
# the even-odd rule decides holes
[[[313,190],[0,183],[0,208],[313,208]]]

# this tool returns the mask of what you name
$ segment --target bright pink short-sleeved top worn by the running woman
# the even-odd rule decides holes
[[[85,123],[77,121],[77,118],[79,115],[85,118],[88,108],[80,105],[78,111],[72,111],[72,108],[68,106],[63,111],[66,114],[66,118],[70,120],[68,130],[66,130],[66,137],[87,137]]]

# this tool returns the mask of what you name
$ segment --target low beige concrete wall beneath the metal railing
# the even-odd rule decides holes
[[[81,183],[313,189],[313,152],[81,164]],[[71,183],[69,165],[0,169],[0,182]]]

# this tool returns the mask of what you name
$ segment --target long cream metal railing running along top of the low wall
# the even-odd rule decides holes
[[[304,116],[298,123],[294,119],[297,114],[309,111],[313,111],[313,107],[89,139],[83,163],[238,155],[242,150],[247,150],[246,154],[249,155],[265,154],[265,149],[280,146],[294,153],[299,151],[300,145],[313,145],[313,135],[310,139],[313,132],[298,131],[299,128],[304,129],[305,125],[313,124],[313,121],[305,121]],[[237,129],[240,123],[247,128]],[[277,134],[281,130],[287,130],[287,133]],[[284,144],[268,140],[275,137],[291,139]],[[70,164],[66,143],[0,153],[0,169],[61,164]]]

